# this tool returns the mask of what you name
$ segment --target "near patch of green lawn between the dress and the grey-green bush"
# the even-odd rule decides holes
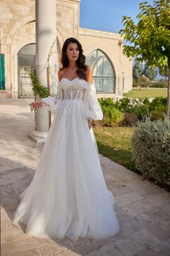
[[[133,127],[94,127],[94,133],[99,153],[135,171],[130,150]]]

